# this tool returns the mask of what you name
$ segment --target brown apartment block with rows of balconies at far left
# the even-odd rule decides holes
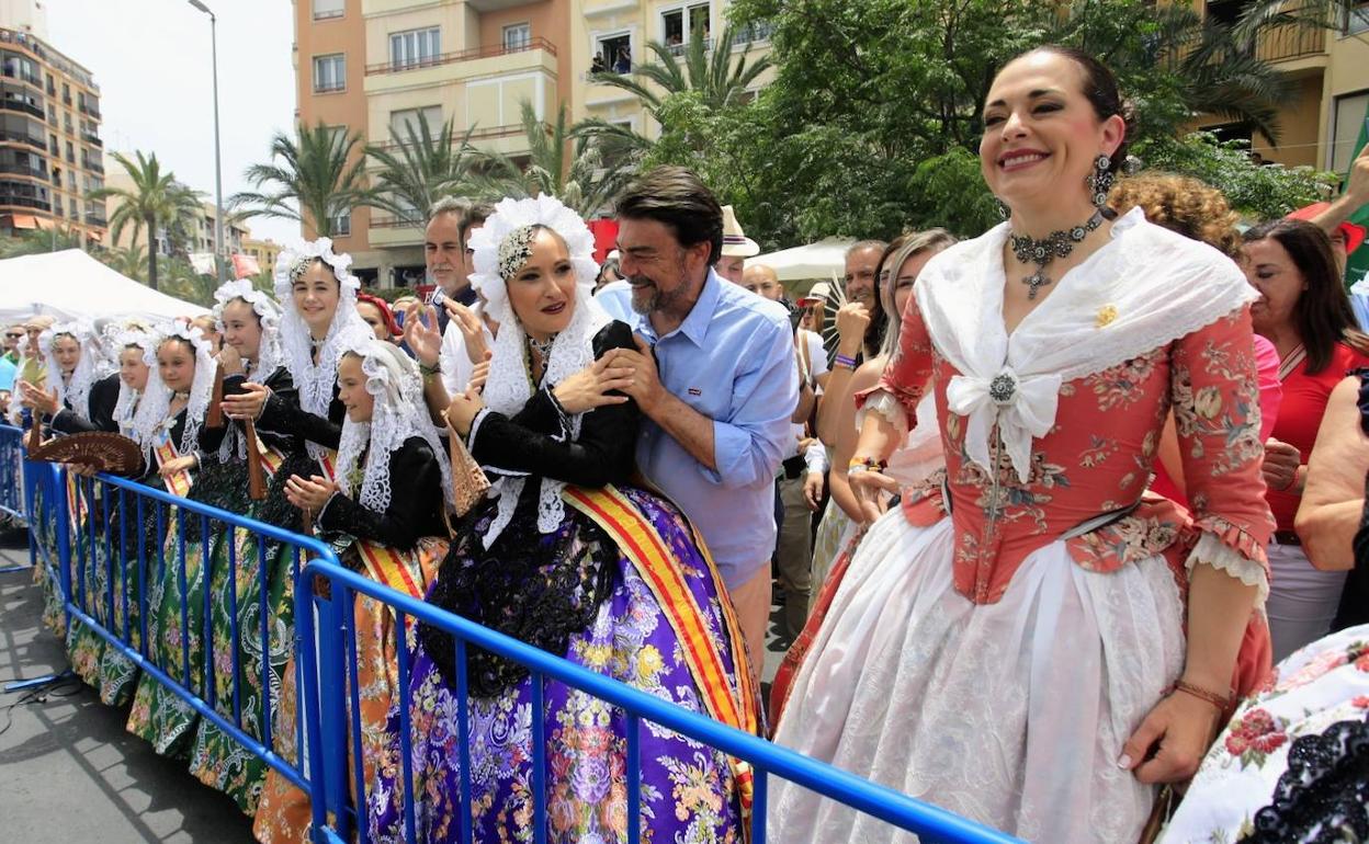
[[[34,31],[0,27],[0,231],[55,227],[103,242],[100,86]]]

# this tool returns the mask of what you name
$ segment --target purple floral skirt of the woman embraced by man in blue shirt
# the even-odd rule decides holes
[[[727,694],[735,695],[726,620],[708,562],[689,525],[661,499],[637,490],[624,492],[680,566],[708,636],[721,652]],[[585,517],[568,509],[560,529],[571,531],[579,520]],[[634,564],[622,553],[615,557],[609,562],[613,569],[608,598],[589,627],[571,635],[565,658],[691,711],[704,711],[702,692],[661,605]],[[413,659],[411,695],[418,841],[460,840],[463,811],[470,813],[475,841],[531,840],[534,717],[545,722],[548,841],[627,841],[627,724],[622,710],[546,680],[545,709],[534,713],[527,677],[496,696],[472,696],[472,804],[463,810],[456,692],[423,648]],[[646,721],[641,722],[639,740],[643,840],[742,840],[738,788],[726,755]],[[400,752],[400,715],[392,710],[378,780],[368,791],[372,841],[404,841],[407,789]]]

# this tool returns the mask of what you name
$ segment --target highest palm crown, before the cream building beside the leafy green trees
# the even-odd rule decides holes
[[[661,41],[649,41],[648,49],[654,53],[654,62],[638,64],[631,75],[611,71],[597,72],[593,81],[609,85],[635,96],[656,122],[661,122],[661,108],[678,93],[693,92],[709,111],[721,111],[745,103],[746,93],[763,72],[771,68],[769,56],[761,56],[747,63],[743,52],[732,62],[732,45],[737,42],[737,29],[730,23],[715,44],[695,27],[683,56],[678,47]],[[593,134],[608,142],[616,142],[631,149],[650,146],[643,135],[630,127],[617,126],[591,118],[576,127],[576,134]]]

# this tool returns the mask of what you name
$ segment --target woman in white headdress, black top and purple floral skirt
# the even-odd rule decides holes
[[[472,283],[501,328],[483,391],[476,379],[455,397],[448,421],[494,484],[463,520],[428,601],[754,732],[753,676],[713,566],[679,510],[613,486],[632,472],[639,410],[612,394],[631,372],[611,368],[604,354],[632,341],[590,298],[589,228],[552,197],[504,200],[471,248]],[[405,321],[434,388],[439,342],[419,320]],[[638,544],[630,549],[626,536]],[[420,841],[457,840],[463,813],[476,841],[528,834],[533,718],[546,725],[549,840],[626,840],[624,714],[550,680],[545,710],[533,711],[528,673],[479,648],[468,666],[472,806],[460,803],[453,643],[437,628],[419,629],[415,793],[407,795],[392,711],[379,781],[368,791],[372,840],[404,839],[405,797]],[[639,739],[642,828],[652,840],[739,841],[745,765],[648,724]]]

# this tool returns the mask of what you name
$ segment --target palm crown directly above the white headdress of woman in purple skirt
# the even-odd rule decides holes
[[[474,178],[475,192],[490,198],[554,196],[580,216],[608,208],[632,176],[630,156],[609,155],[611,141],[576,133],[567,123],[565,105],[546,126],[527,100],[522,103],[527,167],[498,153],[481,153],[486,172]]]

